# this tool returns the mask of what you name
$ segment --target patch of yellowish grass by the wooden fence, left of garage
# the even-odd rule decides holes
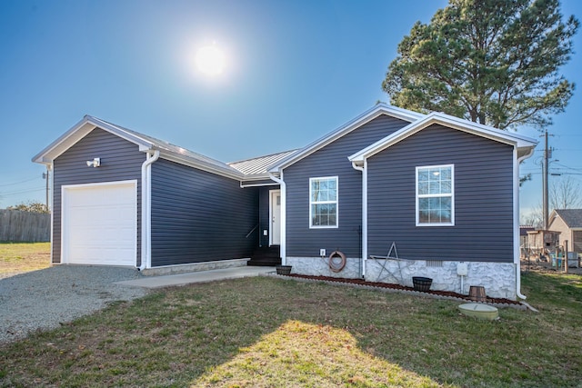
[[[42,270],[50,266],[50,243],[0,242],[0,275]]]

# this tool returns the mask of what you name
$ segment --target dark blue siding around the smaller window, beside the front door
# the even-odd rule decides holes
[[[286,254],[317,257],[339,250],[348,257],[361,256],[362,173],[347,160],[366,146],[408,124],[381,115],[326,145],[284,170],[286,182]],[[309,228],[309,178],[338,177],[338,227]]]

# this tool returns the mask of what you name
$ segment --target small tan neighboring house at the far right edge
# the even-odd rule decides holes
[[[582,254],[582,209],[556,209],[549,216],[548,229],[559,232],[559,244],[574,257]]]

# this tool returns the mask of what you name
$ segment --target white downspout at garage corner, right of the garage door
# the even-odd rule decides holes
[[[151,242],[151,219],[152,219],[152,184],[151,165],[160,157],[160,152],[149,150],[146,153],[146,162],[142,164],[142,254],[141,265],[137,268],[143,271],[152,266],[152,242]]]

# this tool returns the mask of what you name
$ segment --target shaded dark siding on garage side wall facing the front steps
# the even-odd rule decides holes
[[[258,191],[159,159],[152,164],[152,266],[249,257]],[[255,236],[255,237],[254,237]]]

